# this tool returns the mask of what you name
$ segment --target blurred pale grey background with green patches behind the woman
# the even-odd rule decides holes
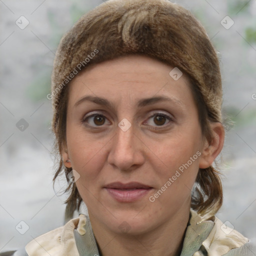
[[[0,0],[0,251],[22,247],[63,225],[64,179],[54,191],[46,95],[61,36],[102,2]],[[255,237],[256,0],[176,2],[201,21],[219,52],[227,132],[217,159],[224,190],[217,216]]]

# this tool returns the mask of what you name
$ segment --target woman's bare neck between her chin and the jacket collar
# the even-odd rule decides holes
[[[190,204],[176,212],[171,219],[142,234],[114,233],[94,219],[90,212],[89,217],[102,256],[177,256],[182,249],[189,210]]]

